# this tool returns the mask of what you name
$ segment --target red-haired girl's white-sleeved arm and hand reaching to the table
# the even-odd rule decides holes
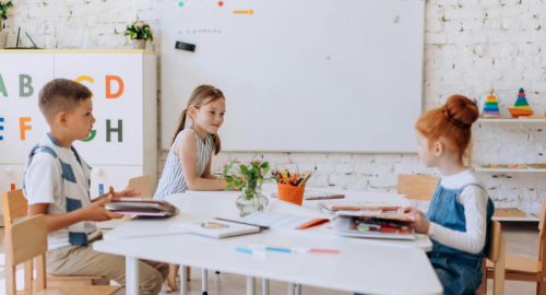
[[[428,234],[430,238],[448,247],[478,253],[484,248],[487,233],[488,198],[486,191],[474,186],[466,187],[459,194],[459,201],[464,206],[466,232],[447,228],[428,222],[423,215],[412,214],[415,217],[415,232]]]

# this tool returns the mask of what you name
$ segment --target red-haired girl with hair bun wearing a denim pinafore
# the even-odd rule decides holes
[[[426,217],[415,208],[404,212],[414,216],[416,233],[430,236],[428,257],[448,295],[474,294],[479,287],[487,227],[495,211],[479,178],[463,162],[478,116],[472,101],[453,95],[415,125],[419,158],[438,168],[442,179]]]

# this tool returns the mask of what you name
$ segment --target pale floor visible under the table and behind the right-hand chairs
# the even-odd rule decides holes
[[[536,258],[538,253],[538,224],[537,223],[502,223],[502,232],[507,237],[507,255]],[[3,255],[3,228],[0,228],[0,294],[4,294],[4,255]],[[17,271],[17,279],[22,275],[22,271]],[[20,280],[17,280],[17,284]],[[257,294],[261,294],[261,280],[257,279]],[[492,294],[491,282],[489,280],[488,294]],[[524,295],[535,294],[536,284],[529,282],[512,282],[507,281],[505,294],[507,295]],[[221,273],[209,271],[209,294],[245,294],[246,278],[236,274]],[[287,284],[284,282],[270,282],[270,294],[280,295],[287,293]],[[161,294],[169,294],[163,291]],[[170,293],[174,294],[174,293]],[[178,292],[176,293],[178,294]],[[191,270],[191,281],[189,282],[189,293],[191,295],[201,295],[201,270]],[[312,286],[304,286],[302,294],[312,295],[348,295],[352,293],[339,292],[327,288],[318,288]]]

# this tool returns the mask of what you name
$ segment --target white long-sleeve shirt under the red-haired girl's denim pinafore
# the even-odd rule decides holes
[[[442,177],[440,185],[448,189],[456,189],[468,184],[478,184],[484,187],[472,168],[452,176]],[[459,202],[464,206],[466,233],[430,222],[429,237],[448,247],[470,253],[478,253],[484,248],[487,233],[488,199],[489,196],[484,189],[476,186],[465,187],[459,193]]]

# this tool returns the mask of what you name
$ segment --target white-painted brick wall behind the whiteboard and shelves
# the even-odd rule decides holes
[[[135,20],[156,31],[159,51],[159,0],[15,0],[8,31],[14,45],[16,27],[43,46],[43,36],[56,36],[58,48],[80,48],[86,25],[98,32],[102,49],[130,48],[122,35]],[[546,103],[546,3],[542,0],[429,0],[425,32],[425,109],[441,106],[455,93],[476,98],[483,107],[494,86],[503,114],[518,90],[525,88],[536,114]],[[23,38],[22,46],[29,46]],[[174,127],[173,127],[174,128]],[[546,162],[546,126],[541,123],[483,123],[474,127],[475,163]],[[224,160],[249,160],[252,153],[221,153]],[[165,161],[162,154],[161,162]],[[311,186],[353,190],[395,191],[396,175],[436,174],[415,154],[266,153],[274,167],[314,169]],[[497,205],[538,212],[546,192],[546,174],[480,174]]]

